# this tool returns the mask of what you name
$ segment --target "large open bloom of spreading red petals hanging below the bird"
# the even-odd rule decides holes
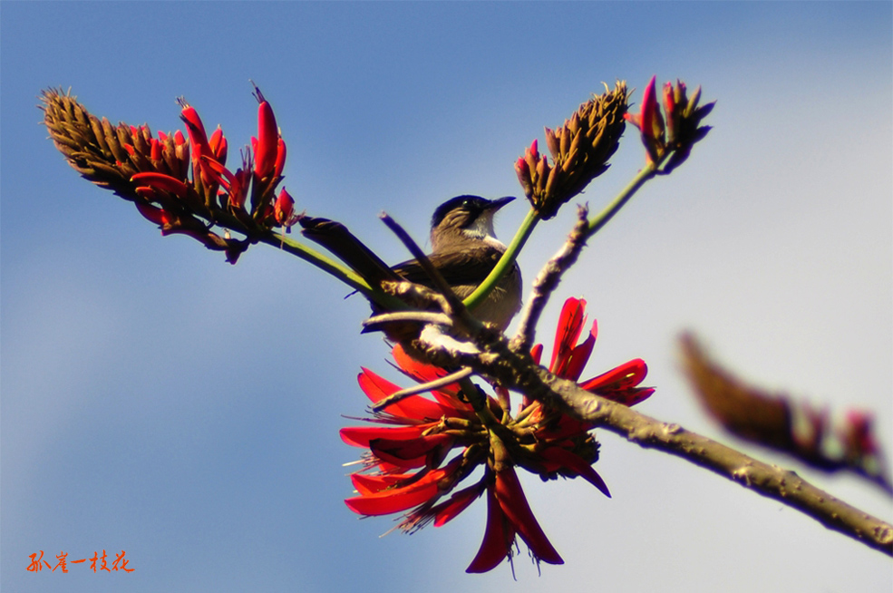
[[[586,301],[576,298],[565,303],[548,367],[574,381],[596,341],[593,323],[586,340],[577,344],[586,324],[585,307]],[[542,346],[536,346],[532,355],[539,362]],[[394,347],[393,357],[404,374],[420,383],[446,374],[413,360],[400,345]],[[654,393],[638,386],[646,373],[645,362],[636,359],[580,386],[633,405]],[[373,403],[399,391],[396,384],[368,369],[358,380]],[[511,559],[516,536],[534,559],[561,564],[530,510],[516,468],[544,480],[580,476],[610,496],[592,467],[598,458],[598,444],[590,433],[593,426],[526,397],[512,416],[507,391],[497,388],[493,396],[476,389],[479,393],[470,396],[459,384],[451,384],[432,390],[433,399],[413,395],[377,413],[370,419],[373,426],[342,429],[347,444],[368,449],[364,468],[351,476],[357,495],[345,503],[367,516],[405,512],[400,527],[413,532],[431,522],[435,527],[447,523],[486,494],[487,525],[468,572],[486,572]],[[484,468],[480,480],[458,489],[479,466]]]

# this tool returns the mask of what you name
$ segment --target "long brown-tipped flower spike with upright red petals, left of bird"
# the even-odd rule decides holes
[[[44,123],[59,151],[84,178],[131,200],[141,215],[159,225],[162,235],[185,234],[211,249],[225,251],[235,263],[252,238],[295,224],[295,200],[285,189],[276,194],[286,161],[269,102],[257,88],[257,138],[242,151],[242,166],[226,167],[228,141],[219,128],[210,135],[199,113],[180,99],[186,135],[148,126],[112,124],[88,112],[70,95],[45,91]],[[252,164],[253,163],[253,164]],[[191,173],[191,179],[190,179]],[[245,235],[221,237],[214,228]]]

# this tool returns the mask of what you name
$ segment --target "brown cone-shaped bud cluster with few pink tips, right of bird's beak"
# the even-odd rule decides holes
[[[537,141],[515,162],[515,172],[540,218],[550,219],[562,204],[604,173],[626,128],[626,83],[617,82],[579,106],[564,125],[546,128],[546,145],[553,164],[539,154]]]

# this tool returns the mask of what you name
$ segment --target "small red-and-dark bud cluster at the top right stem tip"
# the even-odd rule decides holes
[[[642,109],[638,113],[626,113],[626,121],[642,132],[649,163],[659,163],[670,153],[663,171],[669,173],[681,165],[692,151],[694,143],[704,139],[710,126],[702,126],[701,121],[713,111],[715,102],[698,106],[701,100],[701,87],[688,98],[685,83],[676,81],[664,84],[664,112],[666,121],[657,104],[656,77],[645,86],[642,95]]]

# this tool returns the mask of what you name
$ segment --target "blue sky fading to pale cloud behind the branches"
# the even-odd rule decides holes
[[[597,238],[547,310],[586,297],[587,373],[648,362],[644,413],[725,439],[679,374],[694,329],[752,381],[874,410],[893,435],[893,8],[889,3],[0,4],[2,68],[2,585],[16,591],[888,591],[889,560],[731,482],[599,433],[586,483],[526,480],[564,556],[463,570],[484,506],[412,537],[356,520],[337,437],[355,374],[387,374],[358,335],[364,302],[276,249],[235,267],[160,238],[80,180],[35,109],[71,86],[113,122],[180,126],[183,95],[231,150],[263,89],[288,143],[298,209],[340,219],[386,259],[376,215],[426,234],[443,199],[519,194],[512,162],[602,81],[702,84],[714,126],[671,177]],[[581,199],[594,209],[640,166],[628,134]],[[506,209],[509,238],[524,216]],[[541,225],[527,278],[572,212]],[[396,379],[396,377],[393,377]],[[727,439],[726,439],[727,440]],[[733,442],[733,441],[732,441]],[[733,442],[740,445],[741,443]],[[758,457],[782,465],[766,452]],[[859,481],[792,465],[890,519]],[[28,555],[125,549],[136,571],[25,570]],[[747,568],[743,568],[747,567]],[[757,577],[759,574],[759,577]]]

